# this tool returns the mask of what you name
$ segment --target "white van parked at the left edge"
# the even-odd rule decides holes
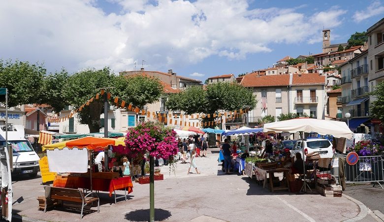
[[[12,146],[12,175],[26,174],[36,177],[39,171],[40,157],[33,150],[30,142],[24,138],[24,126],[8,126],[8,145]],[[0,126],[0,146],[5,145],[5,126]]]

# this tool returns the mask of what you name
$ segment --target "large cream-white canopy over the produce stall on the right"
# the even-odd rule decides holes
[[[348,128],[345,122],[334,120],[322,120],[313,118],[296,118],[278,122],[264,124],[264,134],[296,132],[317,132],[321,135],[330,134],[336,138],[352,139],[353,132]]]

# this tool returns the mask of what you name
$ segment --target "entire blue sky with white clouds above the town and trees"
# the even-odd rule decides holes
[[[320,53],[323,28],[343,43],[383,17],[383,0],[8,0],[0,59],[48,73],[144,67],[204,81]]]

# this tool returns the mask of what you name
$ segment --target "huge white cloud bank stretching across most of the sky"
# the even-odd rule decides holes
[[[236,60],[270,52],[274,42],[317,42],[322,27],[339,26],[346,13],[335,7],[311,16],[297,12],[300,6],[250,10],[247,0],[109,1],[121,5],[119,14],[106,14],[94,0],[0,1],[0,58],[70,72],[133,70],[142,60],[147,70],[176,70],[210,56]]]

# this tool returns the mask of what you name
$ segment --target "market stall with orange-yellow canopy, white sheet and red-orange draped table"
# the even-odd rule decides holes
[[[83,188],[91,192],[109,191],[109,196],[114,192],[115,203],[117,199],[115,190],[125,190],[125,194],[126,191],[132,192],[130,177],[119,178],[119,173],[116,172],[92,172],[92,164],[88,169],[89,160],[91,162],[93,160],[93,152],[104,150],[109,146],[125,147],[125,143],[111,138],[84,137],[43,146],[43,150],[47,150],[50,172],[65,173],[56,177],[54,186]]]

